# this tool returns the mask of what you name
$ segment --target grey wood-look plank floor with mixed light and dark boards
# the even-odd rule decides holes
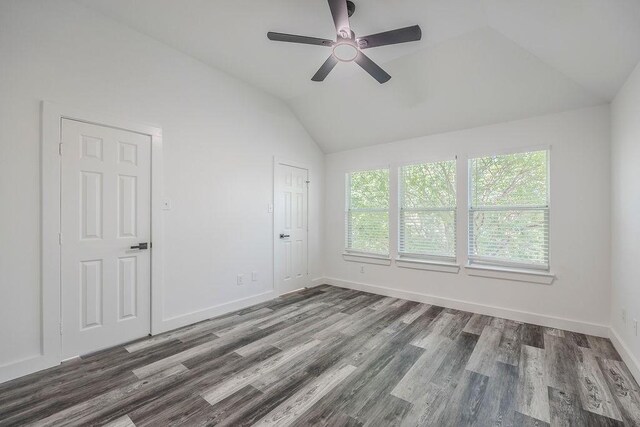
[[[0,385],[0,425],[640,425],[609,340],[322,286]]]

